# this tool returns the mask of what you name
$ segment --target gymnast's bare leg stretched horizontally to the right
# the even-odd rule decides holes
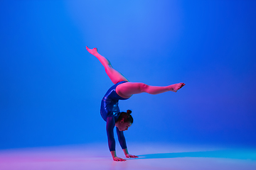
[[[141,94],[143,92],[147,94],[161,94],[166,91],[177,92],[178,89],[185,86],[184,83],[171,84],[169,86],[149,86],[143,83],[132,83],[127,82],[124,84],[119,84],[117,86],[117,94],[123,98],[129,98],[133,94]]]

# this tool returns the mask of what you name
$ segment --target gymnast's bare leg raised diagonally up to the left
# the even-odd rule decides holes
[[[90,52],[90,54],[97,57],[98,60],[100,60],[100,63],[104,66],[105,72],[107,73],[107,76],[110,77],[111,81],[114,84],[117,84],[120,81],[128,81],[122,74],[117,72],[117,70],[113,69],[112,65],[110,64],[110,61],[107,60],[105,57],[100,55],[97,52],[97,48],[90,49],[86,47],[86,50]]]

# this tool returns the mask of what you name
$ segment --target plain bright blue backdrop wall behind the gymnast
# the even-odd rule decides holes
[[[112,82],[178,93],[120,101],[129,142],[256,144],[256,1],[0,1],[0,149],[106,142]]]

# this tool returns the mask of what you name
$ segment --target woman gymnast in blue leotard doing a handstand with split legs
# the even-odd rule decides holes
[[[102,98],[100,108],[100,114],[107,122],[107,140],[112,158],[117,162],[126,161],[126,159],[117,157],[115,152],[114,126],[117,127],[116,129],[119,144],[124,151],[125,157],[137,158],[137,156],[129,154],[124,138],[124,131],[128,130],[133,123],[132,115],[130,115],[132,111],[127,110],[127,112],[120,113],[118,101],[127,100],[133,94],[141,94],[143,92],[148,94],[161,94],[166,91],[176,92],[185,84],[178,83],[170,86],[149,86],[143,83],[129,82],[125,77],[122,76],[122,74],[112,68],[110,62],[97,52],[97,48],[90,49],[86,47],[86,49],[88,52],[90,52],[90,54],[94,55],[98,60],[100,60],[101,64],[105,67],[105,72],[107,73],[108,77],[110,77],[111,81],[114,83],[114,86],[110,87],[105,96]]]

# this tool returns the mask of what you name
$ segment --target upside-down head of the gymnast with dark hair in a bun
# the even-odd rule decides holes
[[[121,112],[117,122],[115,123],[115,126],[118,128],[120,131],[125,131],[128,130],[128,128],[132,125],[133,123],[133,118],[131,115],[132,111],[127,110],[127,112]]]

